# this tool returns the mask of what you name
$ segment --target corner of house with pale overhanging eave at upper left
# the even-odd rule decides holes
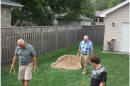
[[[1,0],[1,27],[11,26],[12,7],[22,7],[23,5],[10,0]]]

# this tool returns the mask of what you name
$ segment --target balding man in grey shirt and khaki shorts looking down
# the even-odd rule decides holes
[[[29,86],[29,80],[32,79],[32,70],[37,70],[36,66],[36,52],[32,45],[27,44],[23,39],[17,42],[15,55],[12,61],[11,69],[14,69],[14,64],[18,59],[19,75],[18,79],[22,80],[23,86]]]

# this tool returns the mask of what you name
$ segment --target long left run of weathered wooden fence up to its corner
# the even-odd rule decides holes
[[[37,56],[44,52],[66,47],[82,39],[81,26],[44,26],[2,28],[2,65],[14,56],[17,40],[22,38],[33,45]]]

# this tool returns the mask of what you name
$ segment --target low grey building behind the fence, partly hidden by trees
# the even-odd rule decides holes
[[[84,17],[84,16],[79,16],[79,18],[76,18],[70,22],[65,21],[64,18],[65,15],[55,15],[55,20],[53,22],[54,25],[92,25],[93,19]]]

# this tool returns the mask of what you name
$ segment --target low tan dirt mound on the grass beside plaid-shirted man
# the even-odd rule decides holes
[[[63,68],[66,70],[80,69],[80,57],[75,55],[64,55],[51,64],[52,68]]]

